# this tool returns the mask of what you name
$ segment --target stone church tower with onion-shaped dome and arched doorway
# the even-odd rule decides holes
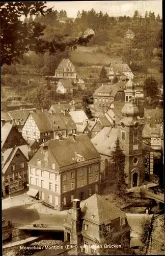
[[[139,116],[135,103],[135,84],[131,79],[126,84],[125,105],[122,109],[123,118],[118,125],[118,136],[125,154],[125,173],[128,188],[141,185],[144,180],[142,131],[144,123]]]

